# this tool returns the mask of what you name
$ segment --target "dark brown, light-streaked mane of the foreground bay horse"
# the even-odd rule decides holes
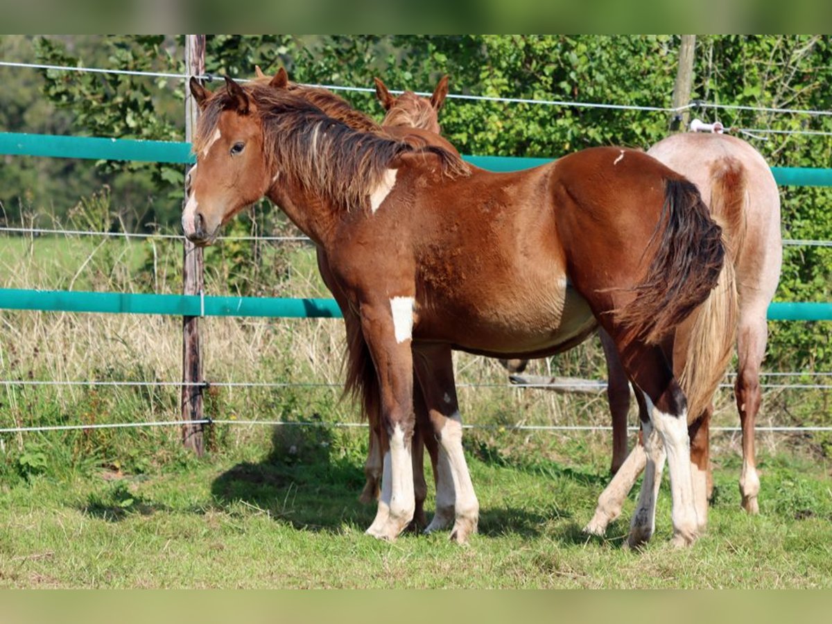
[[[444,176],[468,175],[468,166],[456,155],[438,146],[414,146],[396,141],[374,131],[349,126],[343,118],[330,116],[312,99],[339,115],[349,115],[364,127],[368,121],[374,129],[380,126],[369,117],[354,111],[334,94],[316,87],[279,89],[265,81],[252,81],[242,86],[255,105],[263,128],[263,151],[266,166],[280,175],[297,181],[306,188],[319,188],[334,203],[350,210],[364,206],[369,195],[379,186],[390,164],[405,153],[438,157],[439,171]],[[309,98],[307,97],[309,96]],[[338,102],[340,101],[340,102]],[[199,153],[213,136],[220,114],[235,106],[225,87],[206,102],[197,124],[194,151]]]

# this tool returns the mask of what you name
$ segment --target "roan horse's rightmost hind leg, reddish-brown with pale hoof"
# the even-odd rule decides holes
[[[745,312],[745,310],[743,310]],[[748,513],[760,511],[757,494],[760,493],[760,477],[757,475],[754,449],[754,423],[760,410],[760,364],[765,356],[765,341],[768,328],[765,314],[750,315],[750,321],[740,318],[737,335],[739,372],[736,376],[736,407],[740,412],[742,427],[742,472],[740,473],[740,494],[742,508]]]

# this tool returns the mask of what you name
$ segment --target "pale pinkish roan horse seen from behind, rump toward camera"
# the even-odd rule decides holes
[[[711,214],[726,224],[726,248],[735,267],[739,296],[735,397],[742,426],[741,504],[748,513],[758,513],[760,479],[755,468],[754,422],[761,401],[760,364],[768,334],[766,311],[777,288],[783,255],[777,184],[760,153],[734,136],[677,134],[656,143],[647,153],[693,181],[702,195],[710,198]],[[711,411],[709,406],[708,419]],[[624,423],[614,419],[613,427],[626,428],[626,410],[624,419]],[[691,457],[696,456],[697,448],[708,448],[706,426],[693,433]],[[706,471],[707,454],[697,463],[700,471]],[[588,532],[604,532],[621,513],[626,493],[644,466],[643,450],[636,446],[598,499]],[[699,515],[704,518],[703,513]]]

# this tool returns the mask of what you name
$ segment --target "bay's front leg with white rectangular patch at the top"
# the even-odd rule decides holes
[[[413,298],[360,305],[361,328],[379,377],[384,462],[379,508],[367,533],[395,539],[414,518]]]

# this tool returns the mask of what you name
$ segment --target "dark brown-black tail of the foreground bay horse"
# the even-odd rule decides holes
[[[664,230],[659,234],[659,229]],[[647,249],[655,252],[635,297],[615,313],[627,341],[659,344],[716,286],[725,259],[721,228],[696,186],[666,178],[665,201]]]

